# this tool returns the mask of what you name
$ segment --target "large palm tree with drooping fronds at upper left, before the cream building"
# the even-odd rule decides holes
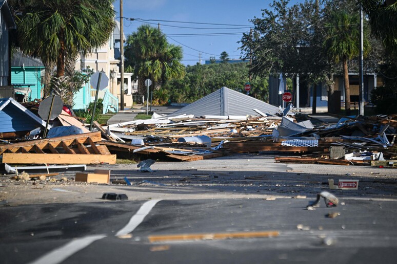
[[[100,48],[114,28],[111,0],[27,0],[17,17],[21,50],[43,62],[56,61],[56,76],[65,75],[67,54]]]

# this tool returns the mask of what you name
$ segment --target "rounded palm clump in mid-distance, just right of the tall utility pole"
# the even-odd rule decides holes
[[[157,28],[142,25],[127,39],[126,65],[134,69],[138,78],[138,93],[146,93],[144,81],[151,79],[151,90],[158,89],[172,78],[184,76],[181,46],[167,42],[166,36]]]

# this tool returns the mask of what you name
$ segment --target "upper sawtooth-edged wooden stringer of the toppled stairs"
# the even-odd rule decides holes
[[[91,133],[86,133],[86,134],[70,135],[70,136],[57,137],[57,138],[52,138],[52,139],[30,140],[30,141],[26,141],[26,142],[1,145],[0,146],[0,155],[6,149],[10,149],[12,152],[14,152],[13,149],[18,149],[20,147],[25,147],[28,151],[30,151],[34,145],[36,145],[38,148],[44,149],[46,147],[46,145],[50,142],[51,142],[51,144],[53,144],[53,146],[56,146],[62,141],[66,145],[69,146],[70,144],[72,144],[74,142],[75,139],[77,139],[78,142],[80,142],[82,144],[84,144],[84,143],[88,144],[89,138],[93,142],[99,142],[102,140],[101,132],[96,131],[96,132],[91,132]]]

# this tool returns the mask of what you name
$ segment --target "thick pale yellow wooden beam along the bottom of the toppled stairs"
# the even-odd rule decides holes
[[[115,164],[116,155],[3,153],[3,163],[9,164]]]

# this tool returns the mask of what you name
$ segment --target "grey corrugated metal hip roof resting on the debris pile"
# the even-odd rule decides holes
[[[255,99],[227,87],[221,89],[179,109],[173,115],[219,115],[219,116],[245,116],[258,114],[252,109],[259,109],[265,114],[274,115],[279,108]]]

